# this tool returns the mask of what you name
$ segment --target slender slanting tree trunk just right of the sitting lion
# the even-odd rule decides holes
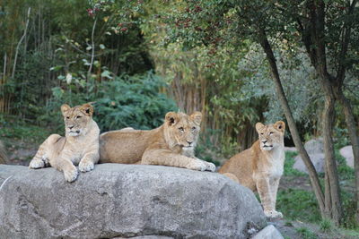
[[[287,120],[289,130],[292,134],[294,145],[298,149],[299,154],[301,155],[302,160],[304,162],[304,165],[308,169],[308,173],[309,173],[310,179],[311,179],[311,186],[312,186],[315,196],[317,198],[318,204],[320,205],[320,214],[321,214],[321,217],[324,218],[325,217],[324,194],[320,187],[320,180],[318,178],[318,174],[317,174],[317,171],[315,170],[315,167],[311,163],[311,158],[309,158],[307,151],[304,149],[301,137],[299,136],[299,132],[295,125],[293,115],[292,115],[291,109],[288,104],[288,100],[285,97],[285,90],[283,90],[283,86],[280,81],[278,68],[276,66],[276,57],[273,54],[272,47],[270,46],[270,44],[268,42],[267,35],[264,30],[260,30],[259,43],[260,43],[261,47],[263,47],[263,49],[266,53],[267,61],[269,62],[270,69],[271,69],[271,72],[273,75],[272,79],[276,85],[276,93],[278,95],[282,109],[285,112],[285,118]]]

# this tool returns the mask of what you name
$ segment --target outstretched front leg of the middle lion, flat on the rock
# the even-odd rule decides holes
[[[198,171],[205,171],[208,164],[198,158],[189,158],[173,153],[169,149],[145,150],[141,163],[144,165],[178,166]]]

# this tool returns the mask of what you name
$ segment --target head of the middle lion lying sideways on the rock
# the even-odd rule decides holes
[[[194,149],[197,144],[202,114],[195,112],[192,115],[169,112],[165,117],[165,133],[171,146],[180,146],[182,149]]]

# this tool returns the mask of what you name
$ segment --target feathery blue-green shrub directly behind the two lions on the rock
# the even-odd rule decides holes
[[[39,120],[56,119],[53,124],[62,125],[60,106],[94,102],[94,120],[101,131],[124,127],[153,129],[162,124],[164,115],[176,110],[175,103],[159,91],[165,85],[161,78],[149,72],[144,75],[115,77],[101,83],[72,82],[63,88],[53,89],[53,98],[48,102],[47,114]]]

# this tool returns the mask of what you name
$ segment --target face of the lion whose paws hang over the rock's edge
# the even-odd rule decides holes
[[[61,112],[64,115],[66,135],[79,136],[85,133],[87,124],[92,120],[93,107],[90,104],[77,107],[65,104],[61,106]]]

